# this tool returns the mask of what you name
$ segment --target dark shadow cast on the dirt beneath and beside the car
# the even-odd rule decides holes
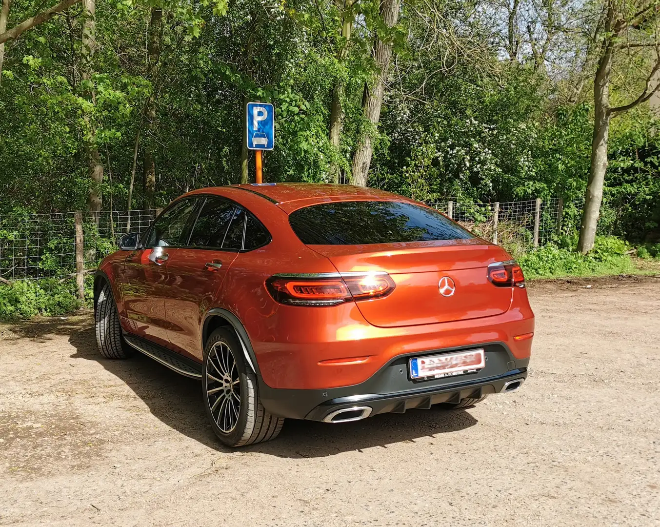
[[[147,404],[151,413],[176,431],[220,452],[233,452],[213,434],[201,402],[199,381],[184,377],[142,353],[131,359],[106,359],[98,353],[94,328],[75,330],[69,343],[76,348],[72,359],[100,363],[120,378]],[[467,429],[477,419],[465,410],[411,409],[406,413],[374,415],[364,421],[331,425],[287,419],[277,440],[246,446],[244,452],[262,452],[282,458],[315,458]]]

